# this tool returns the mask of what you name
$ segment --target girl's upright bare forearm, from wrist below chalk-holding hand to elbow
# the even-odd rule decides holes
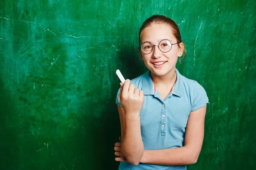
[[[125,134],[122,140],[122,153],[134,165],[140,163],[144,146],[140,130],[140,114],[125,114]]]

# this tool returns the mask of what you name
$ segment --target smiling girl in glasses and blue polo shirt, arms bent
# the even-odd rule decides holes
[[[120,83],[116,96],[119,170],[186,170],[203,144],[207,94],[175,68],[186,53],[175,21],[153,15],[140,28],[139,40],[148,72]]]

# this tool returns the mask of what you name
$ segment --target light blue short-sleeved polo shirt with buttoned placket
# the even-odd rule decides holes
[[[207,105],[204,88],[196,81],[182,76],[175,68],[177,80],[173,92],[164,100],[154,90],[150,71],[131,80],[135,88],[143,90],[144,103],[140,111],[141,136],[145,150],[160,150],[182,147],[187,121],[191,111]],[[120,89],[116,96],[118,101]],[[163,166],[120,162],[119,170],[186,170],[186,165]]]

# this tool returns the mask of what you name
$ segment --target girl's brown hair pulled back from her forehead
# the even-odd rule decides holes
[[[152,17],[150,17],[144,21],[144,23],[140,27],[140,34],[146,27],[150,26],[152,23],[158,23],[158,24],[164,23],[164,24],[169,25],[172,29],[173,35],[177,39],[177,42],[178,42],[177,45],[180,47],[179,43],[182,42],[181,35],[180,35],[180,29],[174,20],[172,20],[171,18],[168,18],[164,15],[153,15]],[[139,42],[140,42],[140,34],[139,34]],[[186,56],[186,48],[184,45],[182,61],[184,60],[185,56]]]

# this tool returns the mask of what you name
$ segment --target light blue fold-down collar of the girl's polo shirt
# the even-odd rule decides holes
[[[177,75],[177,80],[172,94],[181,97],[183,91],[183,79],[177,68],[175,68],[175,72]],[[142,90],[144,95],[154,95],[154,84],[152,82],[149,70],[144,74],[142,84]]]

